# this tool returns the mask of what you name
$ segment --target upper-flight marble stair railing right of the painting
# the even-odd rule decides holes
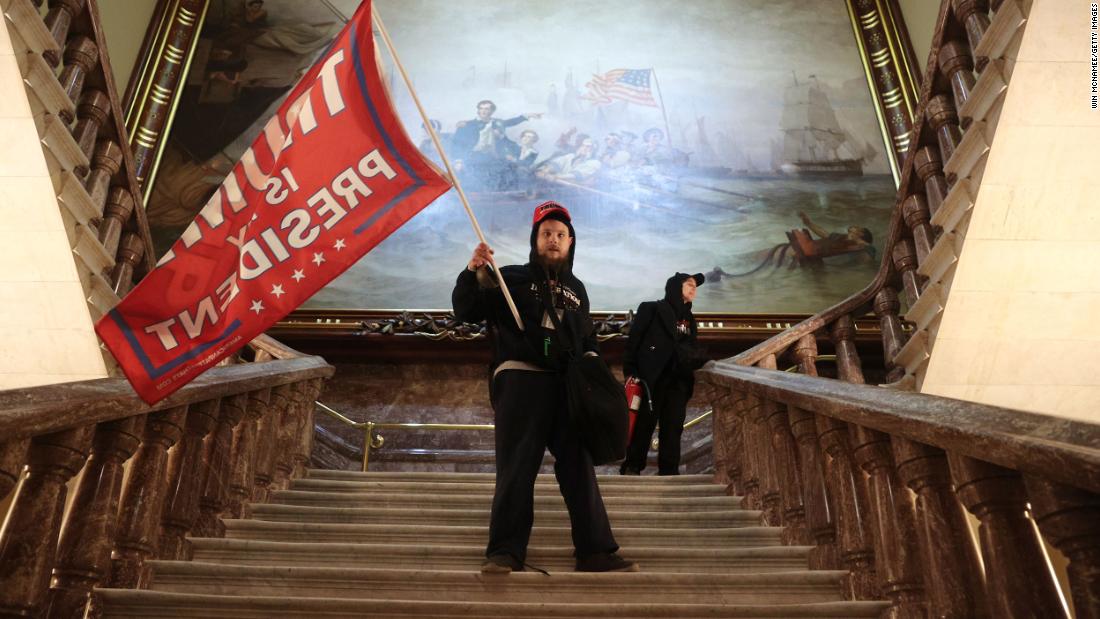
[[[862,290],[733,357],[757,365],[800,339],[868,312],[879,319],[887,382],[923,376],[1011,77],[1004,54],[1026,23],[1023,0],[944,0],[902,164],[882,262]],[[977,76],[977,77],[976,77]],[[914,325],[902,329],[900,310]]]

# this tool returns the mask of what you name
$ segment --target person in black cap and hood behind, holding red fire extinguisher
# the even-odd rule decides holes
[[[664,284],[663,299],[644,301],[635,312],[623,374],[644,382],[650,397],[642,398],[642,410],[619,467],[623,475],[640,475],[646,468],[658,423],[657,474],[680,474],[680,436],[688,400],[695,388],[694,373],[705,363],[696,343],[698,328],[691,305],[705,280],[702,273],[676,273]]]

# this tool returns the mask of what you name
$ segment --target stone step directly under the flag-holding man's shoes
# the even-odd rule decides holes
[[[574,604],[785,604],[840,601],[846,572],[584,574],[534,571],[364,570],[154,561],[153,590],[232,596]]]

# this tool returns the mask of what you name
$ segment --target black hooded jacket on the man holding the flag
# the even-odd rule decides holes
[[[476,273],[469,269],[462,269],[454,283],[454,290],[451,294],[454,317],[463,322],[487,321],[490,339],[493,342],[493,367],[505,361],[521,361],[547,369],[564,369],[566,357],[561,350],[558,335],[552,330],[542,328],[546,308],[540,288],[546,281],[546,276],[539,267],[532,267],[530,264],[505,266],[501,273],[524,320],[526,331],[521,332],[516,327],[512,310],[508,309],[501,289],[482,288]],[[574,353],[578,356],[590,351],[598,353],[595,328],[588,313],[588,294],[584,289],[584,284],[569,270],[559,277],[563,294],[554,292],[553,296],[557,307],[564,309],[562,328]]]

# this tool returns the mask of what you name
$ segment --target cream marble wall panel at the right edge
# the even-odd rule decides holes
[[[1070,9],[1070,4],[1072,9]],[[1087,2],[1035,0],[922,391],[1100,421]]]

